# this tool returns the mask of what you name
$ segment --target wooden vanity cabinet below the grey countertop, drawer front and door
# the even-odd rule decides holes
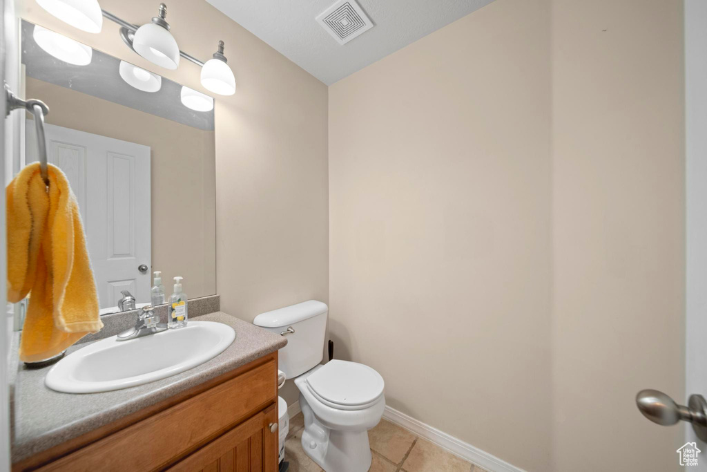
[[[13,465],[13,471],[278,468],[277,352]]]

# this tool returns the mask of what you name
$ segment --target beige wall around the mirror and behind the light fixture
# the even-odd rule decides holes
[[[132,23],[158,2],[101,0]],[[209,93],[200,69],[156,67],[129,50],[115,23],[83,33],[21,2],[21,16],[107,54]],[[216,96],[216,291],[221,309],[246,321],[258,313],[329,297],[327,86],[203,0],[170,0],[168,22],[182,50],[206,60],[218,40],[238,83]],[[187,292],[188,294],[189,292]],[[294,390],[286,400],[296,400]]]

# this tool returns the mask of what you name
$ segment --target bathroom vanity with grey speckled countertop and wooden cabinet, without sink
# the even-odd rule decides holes
[[[226,313],[235,341],[175,376],[104,393],[14,381],[13,471],[276,471],[277,350],[286,339]],[[73,352],[86,344],[71,348]]]

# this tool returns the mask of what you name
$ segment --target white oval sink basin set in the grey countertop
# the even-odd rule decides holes
[[[45,384],[66,393],[94,393],[134,387],[179,374],[221,354],[235,331],[213,321],[189,321],[128,341],[105,338],[64,357],[47,373]]]

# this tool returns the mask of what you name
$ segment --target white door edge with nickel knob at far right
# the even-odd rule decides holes
[[[662,425],[686,421],[676,463],[707,471],[707,2],[685,0],[685,391],[650,391],[644,414]],[[680,366],[675,366],[680,369]],[[679,408],[675,403],[686,405]],[[639,405],[641,408],[641,405]],[[686,409],[690,414],[686,413]],[[681,441],[682,442],[682,441]],[[686,456],[682,450],[686,449]]]

